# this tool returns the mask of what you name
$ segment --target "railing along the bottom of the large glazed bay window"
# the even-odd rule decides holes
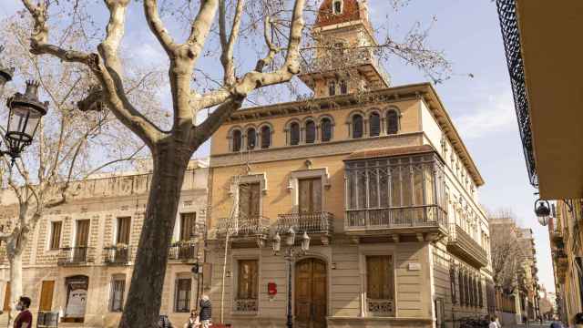
[[[445,210],[438,205],[346,210],[344,230],[446,227],[446,218]]]

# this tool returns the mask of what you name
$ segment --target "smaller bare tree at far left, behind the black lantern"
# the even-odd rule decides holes
[[[56,58],[30,54],[28,31],[14,17],[0,25],[0,37],[6,40],[3,55],[11,58],[19,78],[36,80],[27,83],[39,87],[41,97],[50,99],[48,114],[36,132],[37,140],[15,161],[14,167],[9,159],[0,159],[0,192],[4,193],[0,200],[15,200],[15,204],[0,203],[5,209],[15,208],[15,215],[6,212],[0,215],[3,227],[0,241],[10,265],[10,320],[14,318],[13,302],[23,294],[23,252],[46,211],[74,198],[78,184],[94,173],[126,167],[144,149],[141,140],[120,129],[118,120],[109,112],[81,112],[74,108],[75,100],[84,97],[93,83],[92,77],[78,67],[62,66]],[[62,45],[83,42],[73,32]],[[143,79],[128,80],[134,87],[129,95],[147,111],[151,87],[156,84],[154,76],[148,72]],[[10,87],[14,91],[15,86]],[[5,135],[3,128],[0,132]],[[102,154],[106,148],[110,151]]]

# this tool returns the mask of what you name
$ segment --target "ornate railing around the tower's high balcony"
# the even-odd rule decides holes
[[[331,49],[330,55],[327,56],[316,57],[315,54],[310,54],[313,57],[303,62],[302,73],[320,73],[370,64],[383,78],[384,83],[390,84],[391,77],[384,69],[379,56],[375,54],[374,50],[373,47],[363,47],[357,49]]]

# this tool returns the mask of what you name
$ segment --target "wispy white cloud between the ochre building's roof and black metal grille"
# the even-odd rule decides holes
[[[481,138],[488,134],[516,128],[514,99],[509,90],[487,101],[465,115],[455,118],[462,138]]]

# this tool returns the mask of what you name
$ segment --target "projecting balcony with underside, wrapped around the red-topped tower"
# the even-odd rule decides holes
[[[302,65],[302,80],[308,81],[312,74],[355,68],[377,87],[388,87],[390,84],[391,77],[374,54],[373,48],[338,49],[330,56],[312,56]]]

